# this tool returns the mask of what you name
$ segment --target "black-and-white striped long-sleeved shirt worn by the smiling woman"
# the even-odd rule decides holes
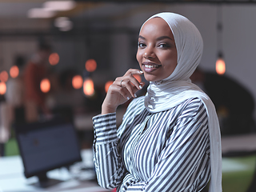
[[[199,98],[152,114],[140,97],[118,129],[115,113],[93,122],[95,170],[106,189],[198,192],[210,179],[208,119]]]

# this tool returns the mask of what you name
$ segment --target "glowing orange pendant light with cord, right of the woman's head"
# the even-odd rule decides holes
[[[217,74],[225,74],[226,63],[224,61],[222,52],[222,6],[217,7],[217,47],[218,47],[218,58],[216,61],[215,69]]]

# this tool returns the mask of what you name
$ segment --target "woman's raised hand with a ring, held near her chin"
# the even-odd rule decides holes
[[[145,82],[138,82],[133,74],[143,74],[141,70],[130,69],[122,77],[115,79],[107,91],[106,98],[102,104],[102,114],[114,113],[117,107],[131,97],[136,98],[136,92],[142,89]]]

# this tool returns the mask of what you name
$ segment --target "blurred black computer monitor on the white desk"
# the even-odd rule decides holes
[[[38,176],[39,186],[50,185],[47,171],[82,161],[72,122],[51,120],[14,127],[24,174]]]

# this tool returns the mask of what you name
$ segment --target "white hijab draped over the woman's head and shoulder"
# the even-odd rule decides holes
[[[190,75],[193,74],[202,57],[202,36],[196,26],[182,15],[166,12],[155,14],[150,18],[155,17],[164,19],[170,26],[174,34],[178,62],[174,72],[168,78],[150,82],[145,97],[146,109],[151,113],[156,113],[178,106],[188,98],[202,100],[206,107],[210,132],[211,181],[209,191],[222,192],[222,150],[218,117],[210,98],[190,81]]]

